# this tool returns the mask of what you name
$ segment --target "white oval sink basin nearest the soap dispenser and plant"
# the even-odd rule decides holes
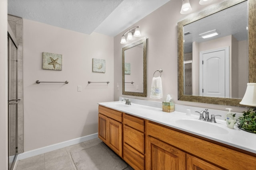
[[[175,123],[180,125],[180,127],[185,127],[186,129],[190,129],[192,131],[200,131],[205,133],[214,133],[214,134],[228,134],[228,131],[216,123],[194,120],[194,119],[179,119],[176,120]]]

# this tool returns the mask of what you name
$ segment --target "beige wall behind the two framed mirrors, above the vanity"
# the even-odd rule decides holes
[[[220,3],[224,0],[216,0],[214,3]],[[162,68],[162,85],[163,85],[163,98],[161,100],[155,99],[155,101],[162,102],[166,99],[166,95],[170,94],[176,104],[184,104],[189,106],[198,106],[211,109],[224,110],[227,106],[216,106],[212,104],[202,104],[196,102],[178,101],[178,68],[177,68],[177,23],[186,17],[193,16],[193,14],[204,10],[207,6],[199,5],[197,0],[190,1],[192,6],[192,14],[182,15],[180,14],[181,2],[178,0],[171,0],[164,6],[158,8],[142,20],[138,21],[134,26],[140,26],[142,36],[148,38],[148,53],[147,53],[147,94],[144,97],[126,96],[122,95],[122,89],[114,88],[114,100],[118,100],[119,96],[139,98],[143,100],[150,99],[150,86],[152,75],[155,70]],[[127,28],[128,29],[128,28]],[[122,84],[122,47],[125,45],[120,44],[122,33],[114,37],[114,86],[116,84]],[[231,107],[231,106],[229,106]],[[243,111],[244,108],[231,107],[233,111]]]

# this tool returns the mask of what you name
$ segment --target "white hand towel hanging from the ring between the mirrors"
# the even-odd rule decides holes
[[[160,99],[163,97],[161,77],[153,77],[151,84],[150,98]]]

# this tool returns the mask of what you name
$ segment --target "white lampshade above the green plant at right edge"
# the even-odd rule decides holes
[[[247,83],[246,92],[240,104],[256,106],[256,83]]]

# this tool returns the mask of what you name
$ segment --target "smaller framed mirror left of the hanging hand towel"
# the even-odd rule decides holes
[[[122,48],[122,89],[130,96],[147,96],[146,37]]]

